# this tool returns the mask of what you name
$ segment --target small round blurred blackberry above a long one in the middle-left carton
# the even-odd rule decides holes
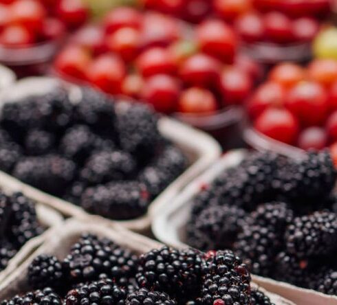
[[[45,155],[50,153],[54,142],[52,133],[34,129],[25,137],[25,152],[27,155]]]

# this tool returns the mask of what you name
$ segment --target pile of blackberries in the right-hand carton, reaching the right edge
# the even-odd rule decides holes
[[[337,295],[337,172],[328,151],[254,153],[193,199],[188,245],[232,249],[257,275]]]

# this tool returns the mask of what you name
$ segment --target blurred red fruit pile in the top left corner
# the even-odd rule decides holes
[[[54,41],[87,21],[82,0],[0,0],[0,45]]]

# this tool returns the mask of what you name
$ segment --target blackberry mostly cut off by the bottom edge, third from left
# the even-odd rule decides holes
[[[161,305],[175,305],[177,302],[171,299],[166,293],[158,291],[149,291],[142,288],[135,293],[131,293],[127,297],[127,305],[140,305],[140,304],[161,304]]]

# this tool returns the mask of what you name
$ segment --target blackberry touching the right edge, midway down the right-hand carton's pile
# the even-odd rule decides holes
[[[294,218],[285,231],[285,245],[298,258],[329,256],[336,249],[337,217],[332,212],[314,212]]]

